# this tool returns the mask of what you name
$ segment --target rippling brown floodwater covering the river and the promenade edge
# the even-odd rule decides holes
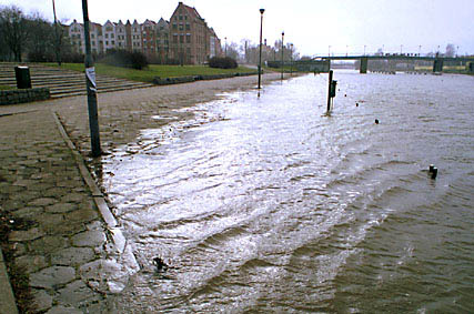
[[[474,77],[336,71],[324,117],[326,79],[224,94],[103,159],[142,266],[117,312],[474,312]]]

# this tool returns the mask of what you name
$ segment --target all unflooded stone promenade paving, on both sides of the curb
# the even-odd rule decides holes
[[[266,74],[263,80],[279,75]],[[127,144],[142,129],[191,118],[192,111],[179,109],[251,88],[255,80],[243,77],[99,94],[102,149]],[[84,183],[77,155],[58,131],[51,111],[58,112],[72,142],[87,156],[85,97],[0,107],[0,207],[32,223],[13,231],[9,243],[16,250],[16,263],[30,274],[40,311],[113,312],[108,296],[125,287],[138,265],[131,249],[118,244],[117,229],[98,211],[97,195]]]

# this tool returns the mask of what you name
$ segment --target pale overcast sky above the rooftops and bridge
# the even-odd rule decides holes
[[[179,1],[89,0],[89,18],[107,20],[169,20]],[[263,38],[273,44],[285,32],[301,54],[361,53],[384,48],[386,52],[445,51],[447,43],[458,53],[474,53],[474,0],[188,0],[224,43],[259,41],[260,8]],[[52,0],[0,0],[27,13],[39,11],[52,20]],[[82,22],[81,0],[56,0],[61,20]],[[403,45],[403,48],[401,48]]]

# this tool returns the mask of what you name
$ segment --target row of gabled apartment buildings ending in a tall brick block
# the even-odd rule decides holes
[[[83,24],[74,20],[68,26],[68,34],[75,52],[84,53]],[[92,53],[104,53],[110,49],[143,52],[150,61],[165,63],[170,60],[184,64],[202,64],[214,55],[222,54],[221,41],[212,28],[194,8],[179,2],[165,21],[145,20],[133,23],[121,20],[107,21],[103,26],[90,23]]]

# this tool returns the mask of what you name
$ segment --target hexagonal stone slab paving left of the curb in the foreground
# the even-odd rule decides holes
[[[121,261],[50,111],[0,118],[0,206],[31,221],[12,231],[14,262],[47,313],[107,313],[137,271]]]

